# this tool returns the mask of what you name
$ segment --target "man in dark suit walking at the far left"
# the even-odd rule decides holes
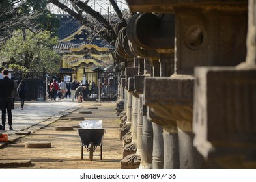
[[[2,70],[3,79],[0,79],[0,109],[2,110],[2,125],[0,130],[5,130],[6,113],[8,114],[9,129],[12,128],[12,109],[14,109],[12,100],[12,90],[14,90],[14,81],[8,77],[9,71]]]

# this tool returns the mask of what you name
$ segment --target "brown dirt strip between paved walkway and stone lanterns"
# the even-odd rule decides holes
[[[103,102],[83,103],[83,106],[72,112],[70,115],[51,123],[44,129],[24,136],[18,142],[9,144],[5,148],[0,148],[0,160],[31,160],[29,167],[16,168],[35,168],[35,169],[116,169],[121,168],[122,141],[119,140],[119,118],[115,114],[115,103]],[[88,109],[98,107],[98,109]],[[92,114],[81,114],[79,112],[91,110]],[[63,125],[79,126],[80,120],[64,120],[84,116],[85,120],[102,120],[104,134],[103,155],[94,156],[93,161],[89,161],[88,156],[81,160],[81,143],[78,135],[78,128],[72,131],[56,131],[54,127]],[[25,142],[46,141],[51,142],[51,148],[25,148]],[[97,148],[96,152],[100,151]]]

